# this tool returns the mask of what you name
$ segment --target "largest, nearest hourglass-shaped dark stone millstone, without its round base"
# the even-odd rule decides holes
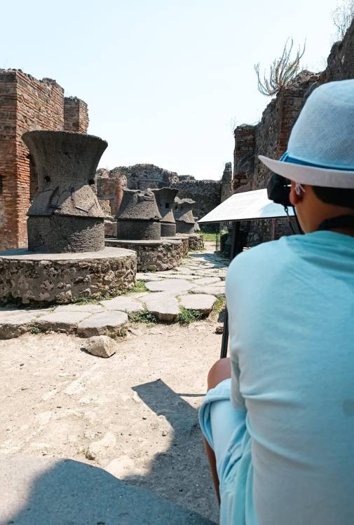
[[[34,160],[39,188],[27,212],[29,251],[102,250],[104,212],[92,186],[107,142],[59,131],[26,132],[22,139]]]

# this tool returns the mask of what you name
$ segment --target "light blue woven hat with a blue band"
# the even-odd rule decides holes
[[[354,188],[354,80],[329,82],[308,97],[272,172],[311,186]]]

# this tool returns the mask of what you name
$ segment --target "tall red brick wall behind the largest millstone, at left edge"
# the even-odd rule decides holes
[[[63,129],[64,90],[55,80],[0,69],[0,251],[27,246],[26,214],[37,180],[22,134]]]

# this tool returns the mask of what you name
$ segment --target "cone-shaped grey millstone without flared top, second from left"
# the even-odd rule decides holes
[[[116,213],[118,239],[158,241],[161,239],[161,215],[151,190],[125,189]]]

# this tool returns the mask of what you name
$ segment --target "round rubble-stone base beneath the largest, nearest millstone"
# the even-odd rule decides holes
[[[115,296],[134,286],[133,251],[104,248],[86,253],[0,253],[0,302],[46,305],[79,297]]]

